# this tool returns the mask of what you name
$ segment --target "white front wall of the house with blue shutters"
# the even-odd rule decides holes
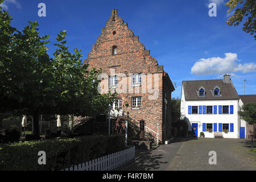
[[[188,106],[214,106],[217,105],[217,114],[188,114]],[[234,114],[218,114],[218,105],[233,105]],[[234,132],[228,132],[228,134],[222,131],[224,138],[239,138],[239,124],[238,122],[238,100],[214,100],[214,101],[185,101],[184,90],[181,91],[181,105],[180,105],[181,117],[185,118],[188,122],[188,130],[191,131],[191,124],[198,123],[198,136],[200,132],[203,131],[203,123],[217,123],[217,132],[218,132],[218,123],[234,123]],[[199,107],[198,107],[199,110]],[[242,127],[244,123],[242,123]],[[229,125],[230,130],[230,125]],[[203,131],[205,138],[214,138],[214,132],[209,133],[208,131]]]

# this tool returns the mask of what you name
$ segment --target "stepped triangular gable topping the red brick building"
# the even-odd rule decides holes
[[[113,55],[113,46],[117,47],[117,54]],[[92,50],[84,60],[84,64],[102,68],[103,72],[110,73],[110,68],[122,73],[162,73],[163,66],[150,55],[144,45],[139,42],[139,37],[134,36],[127,23],[117,15],[113,9],[101,35],[93,44]]]

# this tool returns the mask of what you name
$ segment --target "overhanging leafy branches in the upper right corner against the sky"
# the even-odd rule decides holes
[[[239,4],[243,3],[242,7],[237,6]],[[233,15],[230,16],[228,21],[226,22],[229,26],[238,26],[240,22],[242,22],[243,18],[247,16],[247,19],[245,23],[243,24],[243,31],[246,33],[250,33],[250,35],[253,35],[256,33],[256,3],[255,0],[246,0],[245,2],[243,0],[229,0],[226,3],[226,6],[229,7],[228,13],[234,9]],[[256,40],[256,35],[254,35],[254,38]]]

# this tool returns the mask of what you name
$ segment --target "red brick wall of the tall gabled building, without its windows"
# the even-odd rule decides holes
[[[115,31],[115,35],[113,32]],[[117,46],[117,55],[113,55],[113,46]],[[163,139],[163,66],[158,65],[158,62],[154,57],[150,55],[150,51],[145,50],[145,47],[139,42],[138,36],[134,36],[127,23],[123,23],[121,17],[117,15],[115,10],[112,11],[112,15],[106,22],[105,28],[102,28],[101,35],[97,38],[96,44],[93,45],[92,50],[89,52],[87,59],[84,63],[89,64],[89,69],[92,67],[102,68],[102,72],[110,76],[110,69],[113,69],[115,73],[124,73],[126,79],[127,92],[119,93],[118,97],[122,99],[123,103],[128,102],[129,106],[123,105],[125,113],[129,112],[131,117],[137,120],[144,119],[146,126],[150,129],[157,131],[157,124],[159,124],[160,139]],[[132,84],[132,80],[128,78],[131,73],[144,73],[146,77],[142,78],[142,86],[133,88],[133,92],[129,92],[129,84]],[[152,95],[148,92],[142,93],[142,88],[148,88],[146,82],[148,74],[152,74],[154,86],[155,82],[158,82],[157,89],[158,97],[154,100],[150,100],[148,96]],[[158,77],[154,77],[158,76]],[[158,80],[155,80],[158,78]],[[108,90],[108,80],[104,80],[101,83],[105,84],[105,89]],[[168,85],[168,82],[166,83]],[[143,87],[144,86],[144,87]],[[171,86],[168,85],[170,88]],[[107,87],[107,88],[106,88]],[[103,87],[102,87],[103,88]],[[139,89],[139,92],[135,92],[135,89]],[[171,89],[166,89],[167,99],[171,101]],[[140,96],[142,98],[142,106],[140,110],[131,109],[131,97]],[[168,113],[170,107],[168,106]],[[168,115],[169,116],[169,115]],[[167,116],[167,117],[168,117]],[[166,121],[169,123],[170,118]],[[167,124],[169,125],[169,124]],[[169,130],[168,126],[165,128],[166,133]],[[168,134],[165,134],[166,137]]]

